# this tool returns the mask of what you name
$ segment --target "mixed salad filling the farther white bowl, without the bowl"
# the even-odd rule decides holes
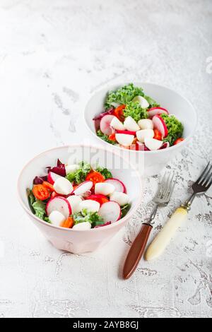
[[[99,138],[129,150],[160,150],[184,141],[184,126],[175,114],[133,83],[108,92],[104,112],[93,121]]]

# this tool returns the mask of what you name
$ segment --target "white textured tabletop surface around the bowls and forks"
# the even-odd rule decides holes
[[[212,1],[0,0],[0,27],[0,316],[212,316],[211,198],[196,198],[166,253],[141,261],[128,281],[119,271],[151,211],[157,177],[146,180],[131,223],[95,254],[54,249],[16,198],[30,158],[88,143],[81,115],[90,93],[107,82],[161,83],[194,103],[199,128],[167,166],[179,179],[158,211],[160,229],[211,156]]]

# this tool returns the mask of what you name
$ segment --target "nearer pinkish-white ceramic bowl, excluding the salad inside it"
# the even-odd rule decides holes
[[[36,175],[41,176],[46,173],[46,166],[55,165],[57,158],[61,162],[66,163],[70,156],[73,158],[73,163],[86,160],[91,165],[95,165],[98,162],[100,165],[110,169],[114,178],[124,182],[131,201],[131,209],[124,218],[105,227],[84,231],[50,225],[33,215],[28,206],[26,189],[32,187],[33,179]],[[82,253],[102,247],[131,218],[131,215],[141,203],[141,178],[139,172],[128,161],[120,158],[117,153],[113,153],[111,150],[83,145],[62,146],[37,155],[25,165],[18,178],[18,198],[30,219],[40,229],[42,234],[52,242],[54,247],[73,253]]]

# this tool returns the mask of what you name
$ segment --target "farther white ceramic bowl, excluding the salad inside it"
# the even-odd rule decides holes
[[[189,139],[194,134],[197,122],[196,112],[192,104],[186,98],[169,88],[152,83],[135,82],[134,85],[141,86],[146,95],[153,97],[161,107],[165,107],[169,110],[170,114],[175,114],[175,116],[182,121],[182,124],[184,125],[183,136],[185,139],[182,143],[179,143],[176,146],[157,151],[134,151],[119,148],[118,146],[112,146],[110,143],[103,141],[95,134],[93,118],[102,112],[107,92],[110,90],[116,90],[125,84],[127,83],[108,85],[106,88],[94,93],[93,96],[90,97],[84,112],[86,124],[99,143],[102,143],[105,146],[110,146],[111,150],[118,151],[120,155],[130,160],[130,162],[139,170],[141,175],[148,176],[158,174],[167,162],[174,158],[175,155],[187,145]]]

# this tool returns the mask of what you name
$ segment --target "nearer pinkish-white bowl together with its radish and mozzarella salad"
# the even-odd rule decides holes
[[[116,153],[64,146],[38,155],[18,179],[20,203],[58,249],[102,247],[141,203],[139,172]]]

